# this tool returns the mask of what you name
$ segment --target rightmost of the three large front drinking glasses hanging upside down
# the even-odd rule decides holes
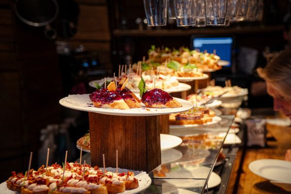
[[[206,25],[226,24],[227,0],[204,0]]]

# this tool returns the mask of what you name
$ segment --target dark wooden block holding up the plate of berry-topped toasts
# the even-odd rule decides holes
[[[160,133],[168,133],[169,116],[115,116],[89,112],[91,164],[150,172],[161,164]]]

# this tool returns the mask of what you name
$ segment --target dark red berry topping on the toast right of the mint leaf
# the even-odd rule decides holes
[[[166,104],[168,101],[172,100],[173,97],[171,97],[167,92],[163,91],[162,89],[155,88],[149,91],[146,91],[146,93],[142,97],[142,102],[147,104],[156,104],[156,103],[162,103]]]

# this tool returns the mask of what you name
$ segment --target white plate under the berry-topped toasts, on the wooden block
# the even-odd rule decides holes
[[[89,94],[83,95],[69,95],[68,97],[64,97],[60,99],[59,103],[67,108],[76,109],[79,111],[87,111],[101,114],[111,114],[118,116],[151,116],[151,115],[159,115],[159,114],[169,114],[169,113],[179,113],[192,109],[194,105],[180,98],[176,98],[178,102],[182,104],[182,107],[179,108],[165,108],[165,109],[155,109],[155,108],[147,108],[144,104],[142,104],[142,108],[135,109],[105,109],[105,108],[97,108],[92,104]]]

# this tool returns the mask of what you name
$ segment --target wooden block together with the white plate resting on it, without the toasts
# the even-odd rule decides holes
[[[161,164],[160,133],[169,130],[169,113],[184,112],[193,108],[187,100],[176,98],[180,108],[142,108],[119,110],[102,109],[92,105],[89,95],[70,95],[60,104],[71,109],[89,112],[91,165],[118,165],[131,170],[150,172]]]

